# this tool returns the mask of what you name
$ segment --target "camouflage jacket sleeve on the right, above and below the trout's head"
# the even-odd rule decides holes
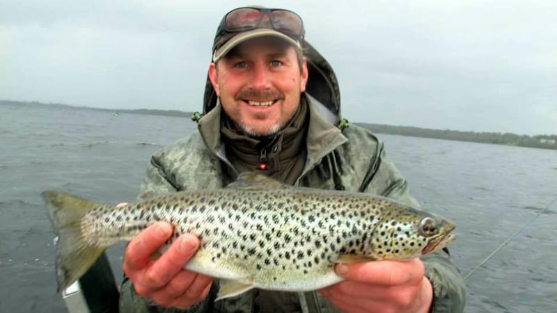
[[[406,180],[400,175],[394,163],[386,157],[382,144],[379,143],[377,154],[372,161],[364,182],[363,191],[376,193],[400,202],[419,207],[418,201],[409,193]],[[448,249],[432,252],[421,257],[425,265],[425,276],[433,287],[433,305],[431,312],[463,312],[466,300],[466,285],[458,268],[450,261]]]

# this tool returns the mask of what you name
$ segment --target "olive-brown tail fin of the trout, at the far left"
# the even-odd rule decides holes
[[[56,281],[58,292],[81,278],[107,247],[88,243],[81,230],[81,219],[88,211],[102,204],[60,191],[42,193],[54,224],[56,241]]]

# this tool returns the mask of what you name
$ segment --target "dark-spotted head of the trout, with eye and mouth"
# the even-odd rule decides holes
[[[416,209],[398,209],[375,227],[370,253],[375,259],[405,260],[445,248],[456,238],[455,224]]]

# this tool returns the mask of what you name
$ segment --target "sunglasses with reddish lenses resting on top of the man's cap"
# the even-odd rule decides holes
[[[258,29],[263,17],[269,19],[272,28],[286,35],[304,38],[304,23],[301,17],[290,10],[272,8],[237,8],[223,17],[216,36],[223,33],[238,33]]]

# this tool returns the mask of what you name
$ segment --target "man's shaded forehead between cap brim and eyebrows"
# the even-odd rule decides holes
[[[224,58],[230,58],[234,56],[251,56],[255,54],[279,54],[279,55],[296,55],[295,47],[290,45],[290,43],[275,37],[262,37],[253,38],[242,42],[240,45],[234,47],[230,50]]]

